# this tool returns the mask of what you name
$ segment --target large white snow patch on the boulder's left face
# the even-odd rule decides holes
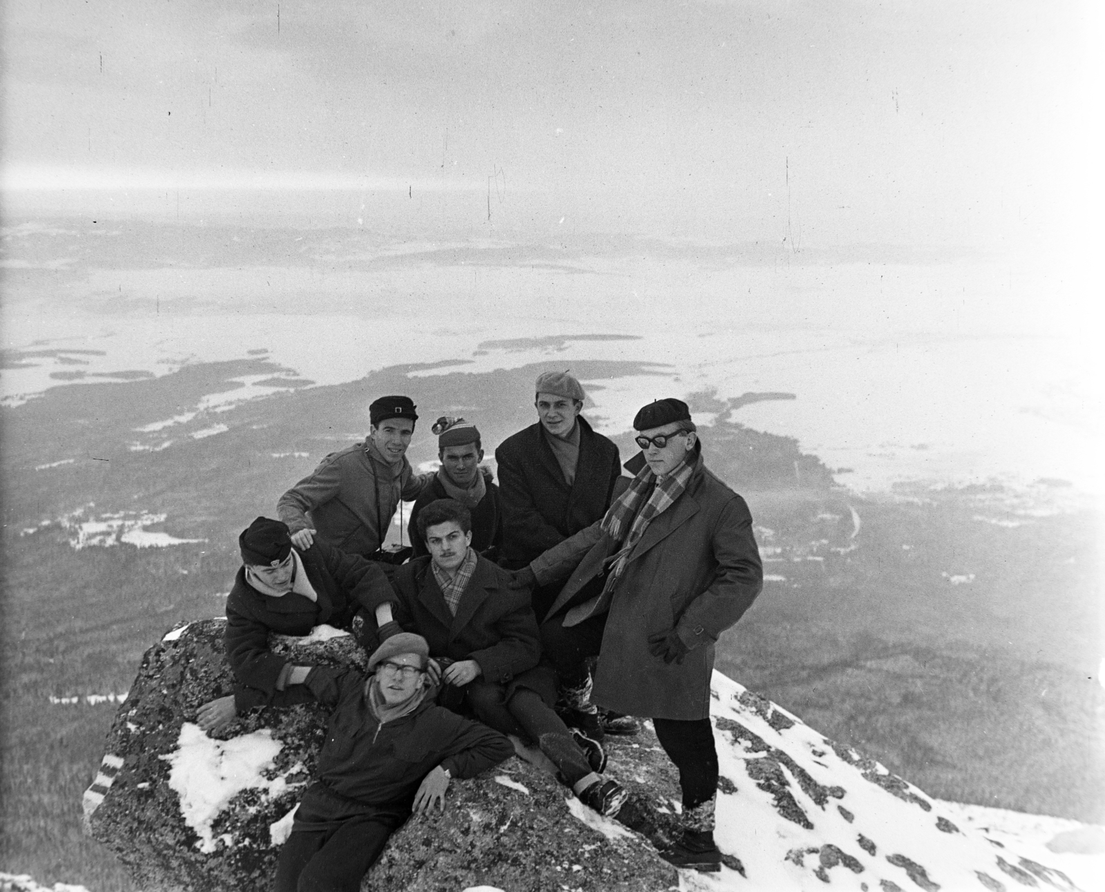
[[[271,789],[276,781],[262,772],[271,768],[283,744],[273,740],[272,729],[263,728],[229,741],[209,737],[199,725],[185,722],[177,750],[158,756],[171,766],[169,786],[180,797],[180,814],[199,836],[201,852],[217,848],[211,822],[243,789]]]

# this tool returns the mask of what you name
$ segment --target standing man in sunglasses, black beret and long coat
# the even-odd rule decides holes
[[[541,645],[566,687],[587,682],[598,654],[593,700],[653,719],[683,789],[683,835],[662,854],[714,871],[714,643],[751,606],[764,571],[748,506],[703,465],[686,403],[650,403],[633,427],[642,452],[627,464],[636,470],[629,489],[529,564],[538,583],[568,577]]]

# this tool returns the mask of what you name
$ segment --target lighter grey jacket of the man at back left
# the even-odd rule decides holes
[[[407,457],[389,465],[366,439],[330,453],[276,502],[293,532],[314,529],[336,549],[365,558],[379,550],[401,499],[417,499],[429,476],[415,476]],[[309,513],[309,517],[308,517]]]

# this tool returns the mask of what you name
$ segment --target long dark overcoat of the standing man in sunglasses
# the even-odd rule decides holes
[[[570,574],[546,622],[572,626],[589,618],[599,586],[583,586],[617,551],[596,523],[534,561],[538,582]],[[748,506],[706,469],[699,453],[687,488],[649,524],[614,584],[593,702],[654,719],[708,718],[714,643],[762,585]],[[682,663],[649,651],[649,636],[672,628],[693,648]]]

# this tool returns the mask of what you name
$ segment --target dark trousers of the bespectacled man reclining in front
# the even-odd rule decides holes
[[[355,817],[336,829],[293,830],[276,861],[274,892],[359,892],[398,826],[387,816]]]

